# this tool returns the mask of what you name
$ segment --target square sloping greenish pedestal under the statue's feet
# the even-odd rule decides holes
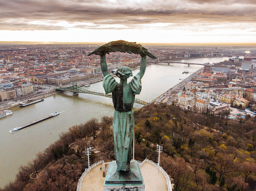
[[[104,191],[145,191],[138,161],[131,161],[130,171],[116,172],[116,167],[116,161],[113,160],[108,167],[103,185]]]

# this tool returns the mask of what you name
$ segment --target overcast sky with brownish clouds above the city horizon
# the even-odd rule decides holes
[[[0,0],[0,41],[256,43],[256,0]]]

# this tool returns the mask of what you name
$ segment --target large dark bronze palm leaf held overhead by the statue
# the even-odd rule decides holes
[[[136,42],[127,42],[124,40],[108,42],[107,44],[104,44],[99,48],[96,48],[94,51],[88,54],[88,56],[92,54],[102,56],[105,54],[109,54],[110,52],[127,52],[129,54],[139,54],[141,56],[148,56],[150,58],[156,59],[156,56],[148,52],[148,49],[144,48],[141,44],[136,44]]]

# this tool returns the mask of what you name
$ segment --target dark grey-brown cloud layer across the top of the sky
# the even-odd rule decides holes
[[[244,0],[173,0],[173,1],[83,1],[83,0],[1,0],[0,22],[3,30],[45,30],[47,26],[30,25],[31,21],[66,21],[77,23],[81,28],[91,28],[84,22],[95,25],[122,25],[121,28],[139,27],[154,23],[255,23],[256,3]],[[23,20],[21,20],[23,19]],[[20,20],[20,24],[10,23]],[[4,25],[4,23],[6,23]],[[53,27],[52,30],[66,26]],[[107,27],[106,27],[107,28]],[[118,28],[118,27],[117,27]],[[50,27],[49,29],[51,30]],[[58,30],[58,29],[57,29]]]

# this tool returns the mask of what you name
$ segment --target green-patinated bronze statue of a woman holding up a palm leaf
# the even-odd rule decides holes
[[[120,83],[117,83],[114,77],[108,72],[105,55],[116,51],[141,55],[140,71],[129,83],[127,83],[127,78],[132,76],[132,70],[127,66],[118,67],[114,73],[120,78]],[[88,54],[88,56],[91,54],[100,55],[100,66],[104,75],[103,87],[106,94],[112,93],[115,108],[113,133],[117,171],[129,171],[130,161],[132,160],[134,131],[134,118],[132,112],[134,98],[135,95],[140,94],[141,91],[141,78],[147,67],[146,56],[154,59],[156,59],[156,56],[152,55],[140,44],[124,40],[111,41],[96,48],[92,53]]]

